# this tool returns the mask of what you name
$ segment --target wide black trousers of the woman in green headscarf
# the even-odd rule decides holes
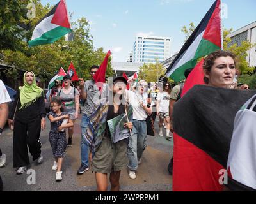
[[[40,118],[26,121],[26,123],[15,119],[13,132],[13,167],[29,165],[28,147],[33,160],[40,157],[40,131]]]

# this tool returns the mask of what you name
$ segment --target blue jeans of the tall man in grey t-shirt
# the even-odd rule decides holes
[[[89,126],[90,117],[88,115],[83,114],[81,121],[81,129],[82,129],[82,138],[81,138],[81,165],[89,166],[89,146],[86,141],[86,129]]]

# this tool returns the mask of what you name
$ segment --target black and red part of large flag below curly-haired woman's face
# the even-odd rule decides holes
[[[173,191],[223,189],[220,170],[227,167],[236,113],[255,94],[195,85],[175,103]]]

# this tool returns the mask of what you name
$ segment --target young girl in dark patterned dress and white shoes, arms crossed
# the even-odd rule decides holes
[[[51,108],[52,111],[48,115],[48,118],[51,121],[49,140],[51,143],[53,156],[55,158],[52,170],[57,170],[56,181],[60,181],[62,180],[61,166],[63,156],[65,155],[67,147],[65,128],[70,128],[74,126],[74,124],[69,118],[69,115],[65,115],[63,112],[61,112],[61,100],[59,98],[52,99]],[[64,119],[68,120],[67,124],[63,124]]]

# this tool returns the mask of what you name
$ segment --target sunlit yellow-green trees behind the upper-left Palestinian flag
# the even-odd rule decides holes
[[[40,45],[28,47],[28,40],[31,39],[33,29],[42,17],[44,17],[53,6],[47,4],[42,6],[40,0],[31,0],[35,4],[35,18],[20,18],[24,24],[29,24],[29,30],[24,32],[27,41],[17,38],[20,49],[13,49],[16,45],[0,48],[0,61],[8,64],[13,69],[6,70],[6,75],[17,79],[18,71],[31,70],[43,81],[49,80],[56,71],[62,66],[66,71],[72,61],[79,77],[88,79],[90,77],[90,66],[101,64],[106,53],[103,48],[93,50],[93,40],[90,34],[90,25],[85,17],[71,22],[74,41],[65,41],[64,37],[52,43],[52,45]],[[13,24],[14,21],[13,21]],[[111,57],[109,57],[107,76],[112,75]]]

